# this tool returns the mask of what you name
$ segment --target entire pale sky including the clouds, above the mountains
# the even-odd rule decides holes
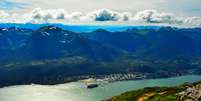
[[[96,21],[200,26],[201,0],[0,0],[0,22]]]

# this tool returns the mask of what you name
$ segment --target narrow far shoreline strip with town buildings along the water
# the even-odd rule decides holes
[[[60,82],[60,83],[24,83],[24,84],[14,84],[8,86],[0,86],[0,88],[5,87],[12,87],[12,86],[21,86],[21,85],[59,85],[64,83],[71,83],[71,82],[79,82],[85,79],[95,79],[95,80],[103,80],[107,81],[108,83],[120,82],[120,81],[133,81],[133,80],[149,80],[149,79],[162,79],[162,78],[172,78],[172,77],[179,77],[179,76],[187,76],[187,75],[201,75],[198,73],[187,73],[187,74],[179,74],[179,75],[169,75],[169,76],[154,76],[154,74],[147,74],[147,73],[123,73],[123,74],[108,74],[108,75],[84,75],[84,76],[75,76],[76,79]],[[71,79],[75,77],[70,77]],[[69,77],[68,77],[69,78]],[[79,78],[79,79],[78,79]]]

